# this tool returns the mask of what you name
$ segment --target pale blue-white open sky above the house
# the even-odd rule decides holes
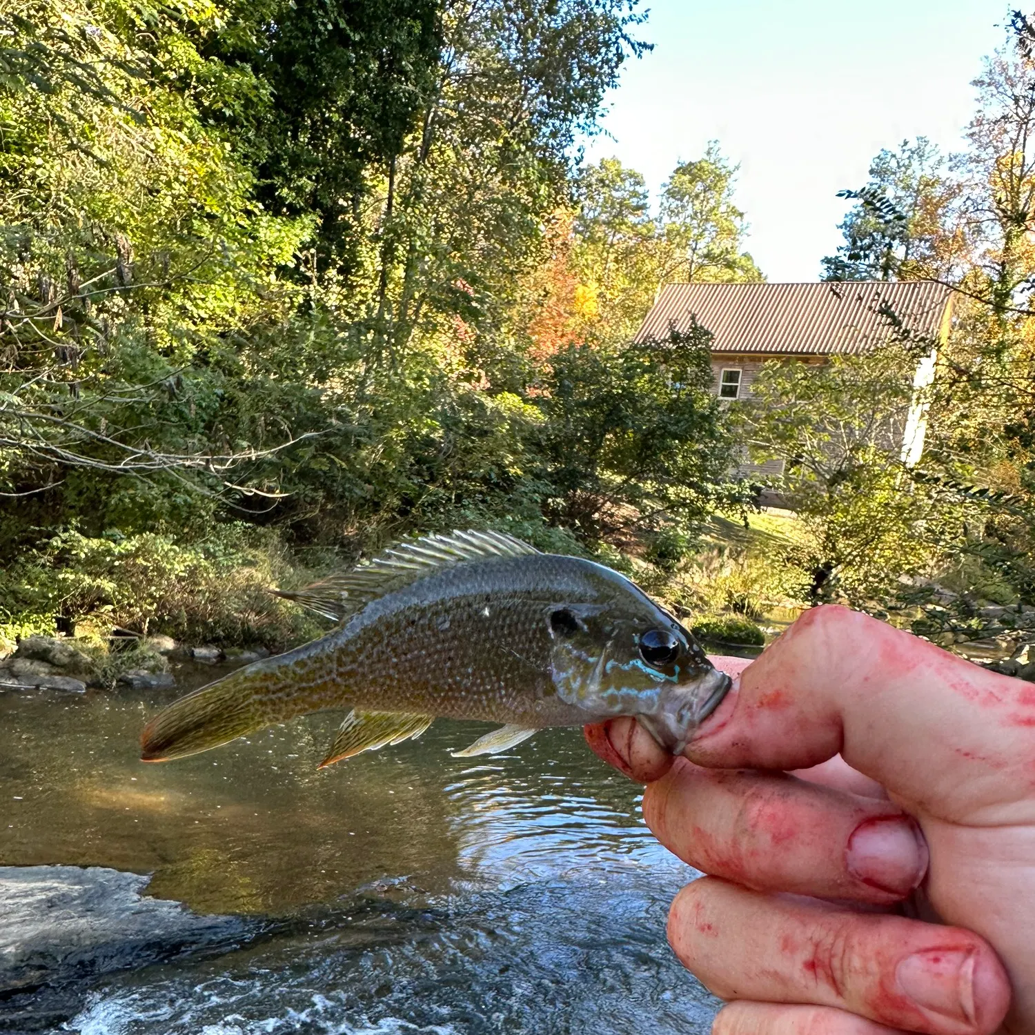
[[[623,66],[605,135],[652,190],[709,140],[740,164],[747,250],[767,278],[815,280],[870,159],[906,138],[958,150],[971,81],[1005,39],[1001,0],[643,0],[654,50]],[[1014,0],[1013,6],[1019,6]],[[608,136],[610,135],[610,136]]]

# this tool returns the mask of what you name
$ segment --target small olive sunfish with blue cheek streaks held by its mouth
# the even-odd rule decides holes
[[[730,688],[689,631],[623,574],[502,532],[406,539],[274,592],[335,627],[174,701],[141,736],[145,762],[324,709],[348,713],[321,767],[419,737],[437,717],[501,723],[453,752],[464,758],[620,715],[678,753]]]

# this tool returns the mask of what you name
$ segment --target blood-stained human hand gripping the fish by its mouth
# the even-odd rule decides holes
[[[1035,1032],[1035,687],[835,607],[713,660],[739,685],[685,758],[586,737],[711,875],[669,940],[714,1035]]]

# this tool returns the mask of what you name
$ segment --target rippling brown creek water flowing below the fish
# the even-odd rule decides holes
[[[664,940],[696,874],[581,731],[461,760],[449,750],[489,727],[438,721],[318,771],[341,719],[327,713],[140,763],[146,717],[216,675],[183,672],[175,691],[0,696],[0,863],[150,874],[147,894],[235,917],[165,946],[160,930],[122,955],[109,946],[105,967],[0,999],[0,1030],[709,1030],[717,1004]]]

